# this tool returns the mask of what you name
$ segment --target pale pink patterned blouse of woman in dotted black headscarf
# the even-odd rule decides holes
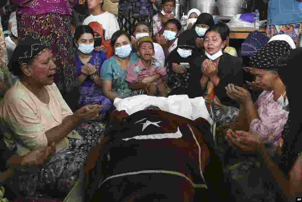
[[[252,120],[249,132],[258,133],[265,138],[265,142],[272,142],[278,146],[289,112],[285,111],[273,98],[273,91],[263,91],[260,94],[255,102],[259,119]]]

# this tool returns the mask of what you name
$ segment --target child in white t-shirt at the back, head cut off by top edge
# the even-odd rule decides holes
[[[108,40],[114,32],[120,30],[120,26],[112,13],[102,9],[103,4],[104,0],[88,0],[88,9],[92,14],[84,20],[83,25],[88,25],[94,21],[100,23],[103,27],[102,37],[104,40]]]

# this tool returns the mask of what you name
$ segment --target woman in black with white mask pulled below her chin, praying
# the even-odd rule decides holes
[[[242,59],[222,51],[229,34],[230,29],[224,23],[209,28],[203,41],[205,55],[191,61],[189,69],[190,98],[203,96],[205,99],[214,99],[216,104],[228,106],[215,112],[217,127],[235,121],[239,114],[239,104],[227,96],[226,85],[243,85]]]

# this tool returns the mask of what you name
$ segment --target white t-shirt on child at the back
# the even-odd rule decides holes
[[[120,30],[116,17],[110,12],[104,12],[101,15],[89,15],[83,21],[83,25],[88,25],[90,22],[98,22],[103,27],[103,34],[105,35],[105,40],[112,37],[114,32]]]

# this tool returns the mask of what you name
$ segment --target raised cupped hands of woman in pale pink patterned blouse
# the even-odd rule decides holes
[[[228,84],[226,87],[226,94],[233,100],[240,101],[241,103],[246,103],[246,101],[251,100],[251,94],[246,89],[235,86],[234,84]]]

